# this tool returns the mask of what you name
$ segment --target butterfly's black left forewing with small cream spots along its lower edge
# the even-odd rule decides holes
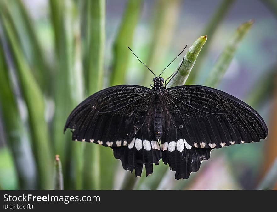
[[[142,86],[119,85],[101,90],[71,112],[64,130],[71,129],[72,140],[126,146],[144,122],[151,97],[151,90]]]

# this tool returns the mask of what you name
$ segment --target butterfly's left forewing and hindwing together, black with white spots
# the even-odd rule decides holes
[[[160,147],[147,125],[152,105],[149,88],[118,85],[101,90],[82,103],[69,115],[64,131],[70,128],[72,140],[109,146],[122,161],[125,170],[141,176],[143,164],[146,175],[158,165]]]

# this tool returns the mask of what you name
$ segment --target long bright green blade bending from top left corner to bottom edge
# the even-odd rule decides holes
[[[44,100],[31,69],[26,63],[24,54],[15,33],[14,24],[8,19],[7,14],[1,10],[1,20],[8,40],[10,51],[16,65],[18,80],[22,89],[28,113],[33,142],[33,152],[37,161],[37,169],[40,187],[42,189],[53,188],[51,162],[51,149],[49,146],[48,127],[44,118]],[[49,164],[49,165],[47,165]]]

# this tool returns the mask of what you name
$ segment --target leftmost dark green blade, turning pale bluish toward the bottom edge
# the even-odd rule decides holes
[[[0,33],[0,37],[2,33]],[[1,39],[4,40],[3,38]],[[8,75],[3,43],[0,46],[0,106],[7,143],[12,151],[20,189],[36,188],[36,165]],[[25,168],[28,166],[28,169]]]

